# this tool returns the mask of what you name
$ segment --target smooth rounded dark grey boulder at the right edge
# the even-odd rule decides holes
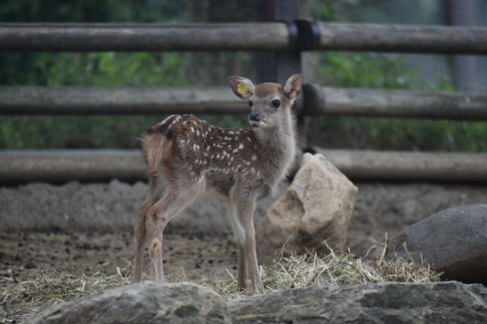
[[[394,252],[417,262],[422,258],[445,279],[487,284],[487,205],[434,213],[401,230],[387,251],[389,258]]]

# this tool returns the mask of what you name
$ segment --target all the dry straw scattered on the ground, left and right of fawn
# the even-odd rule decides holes
[[[424,264],[396,259],[386,260],[384,254],[376,261],[366,262],[348,252],[330,253],[320,257],[315,252],[284,257],[281,253],[268,268],[261,267],[266,292],[280,289],[319,285],[347,285],[368,282],[431,282],[440,275]],[[40,280],[18,281],[0,277],[0,323],[23,320],[45,307],[78,299],[92,292],[120,287],[130,283],[131,266],[116,268],[114,275],[95,273],[75,277],[65,273],[43,273]],[[184,280],[184,274],[174,275],[173,281]],[[171,278],[169,278],[171,280]],[[227,300],[238,299],[246,292],[237,292],[235,274],[219,282],[196,280],[217,290]]]

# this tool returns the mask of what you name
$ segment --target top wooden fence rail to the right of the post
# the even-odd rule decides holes
[[[314,49],[487,54],[487,27],[318,23]]]

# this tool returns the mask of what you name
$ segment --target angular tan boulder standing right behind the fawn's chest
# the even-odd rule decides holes
[[[357,188],[321,154],[304,154],[293,182],[257,227],[260,263],[277,249],[343,247]]]

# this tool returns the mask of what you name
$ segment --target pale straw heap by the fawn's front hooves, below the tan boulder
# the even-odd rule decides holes
[[[260,267],[265,292],[323,285],[440,281],[441,274],[436,273],[429,265],[398,257],[388,260],[385,258],[385,249],[375,261],[363,261],[363,258],[356,258],[349,252],[336,253],[332,249],[329,251],[329,254],[322,257],[313,251],[284,257],[282,251],[268,268]],[[236,276],[231,273],[229,275],[230,280],[208,284],[227,300],[248,294],[238,292]]]

